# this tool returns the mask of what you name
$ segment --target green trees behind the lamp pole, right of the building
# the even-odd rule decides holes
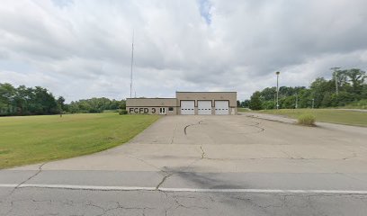
[[[336,70],[331,79],[316,78],[309,87],[281,86],[279,108],[327,108],[341,107],[351,103],[367,105],[366,72],[359,68]],[[276,109],[276,87],[256,91],[249,100],[238,102],[241,107],[252,110]]]

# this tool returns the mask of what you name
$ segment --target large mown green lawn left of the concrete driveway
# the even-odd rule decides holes
[[[76,157],[112,148],[146,129],[157,115],[95,114],[0,118],[0,168]]]

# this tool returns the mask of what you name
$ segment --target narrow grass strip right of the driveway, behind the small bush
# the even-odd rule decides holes
[[[248,110],[238,110],[238,112],[248,112]],[[311,113],[315,115],[316,121],[367,127],[367,112],[355,112],[336,109],[281,109],[251,112],[284,115],[294,119],[297,119],[303,113]]]

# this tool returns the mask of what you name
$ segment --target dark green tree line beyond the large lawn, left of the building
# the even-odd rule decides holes
[[[64,97],[55,98],[48,89],[40,86],[14,87],[8,83],[0,83],[0,116],[89,113],[125,108],[125,100],[94,97],[65,103]]]

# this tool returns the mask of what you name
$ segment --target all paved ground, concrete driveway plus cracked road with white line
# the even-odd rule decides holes
[[[0,215],[365,215],[367,129],[166,116],[94,155],[0,170]]]

